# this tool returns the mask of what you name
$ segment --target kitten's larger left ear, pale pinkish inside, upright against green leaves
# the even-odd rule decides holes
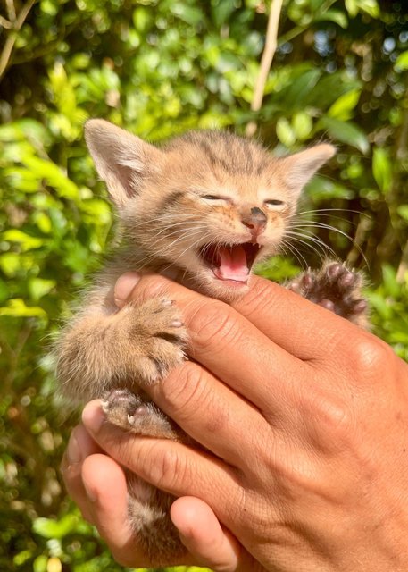
[[[96,171],[117,206],[137,195],[144,177],[162,155],[153,145],[103,119],[86,123],[85,140]]]

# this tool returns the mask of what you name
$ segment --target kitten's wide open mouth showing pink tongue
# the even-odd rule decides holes
[[[205,244],[200,248],[200,256],[219,280],[246,282],[260,250],[259,244]]]

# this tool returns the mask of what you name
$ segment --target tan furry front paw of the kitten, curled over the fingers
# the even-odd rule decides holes
[[[186,359],[187,330],[170,299],[149,299],[121,312],[129,341],[127,363],[137,382],[155,383]]]

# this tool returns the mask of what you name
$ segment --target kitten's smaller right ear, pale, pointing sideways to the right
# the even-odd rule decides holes
[[[329,143],[322,143],[281,160],[283,178],[295,198],[299,196],[306,182],[312,179],[321,165],[335,153],[336,147]]]

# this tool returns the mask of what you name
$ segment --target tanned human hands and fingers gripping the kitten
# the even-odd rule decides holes
[[[231,306],[162,276],[135,283],[131,273],[117,283],[118,307],[175,300],[194,358],[147,391],[209,452],[122,432],[87,405],[63,475],[114,558],[148,566],[127,523],[123,466],[180,497],[182,563],[406,571],[408,366],[393,350],[261,278]]]

